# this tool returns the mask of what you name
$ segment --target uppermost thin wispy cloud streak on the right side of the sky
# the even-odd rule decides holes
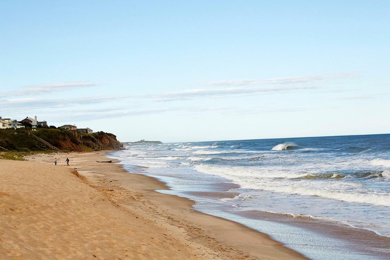
[[[311,75],[300,77],[282,77],[282,78],[266,78],[266,79],[238,79],[238,80],[218,80],[203,82],[207,86],[244,86],[244,85],[258,85],[258,84],[297,84],[309,83],[324,80],[335,80],[341,78],[358,77],[359,73],[333,73],[328,75]]]

